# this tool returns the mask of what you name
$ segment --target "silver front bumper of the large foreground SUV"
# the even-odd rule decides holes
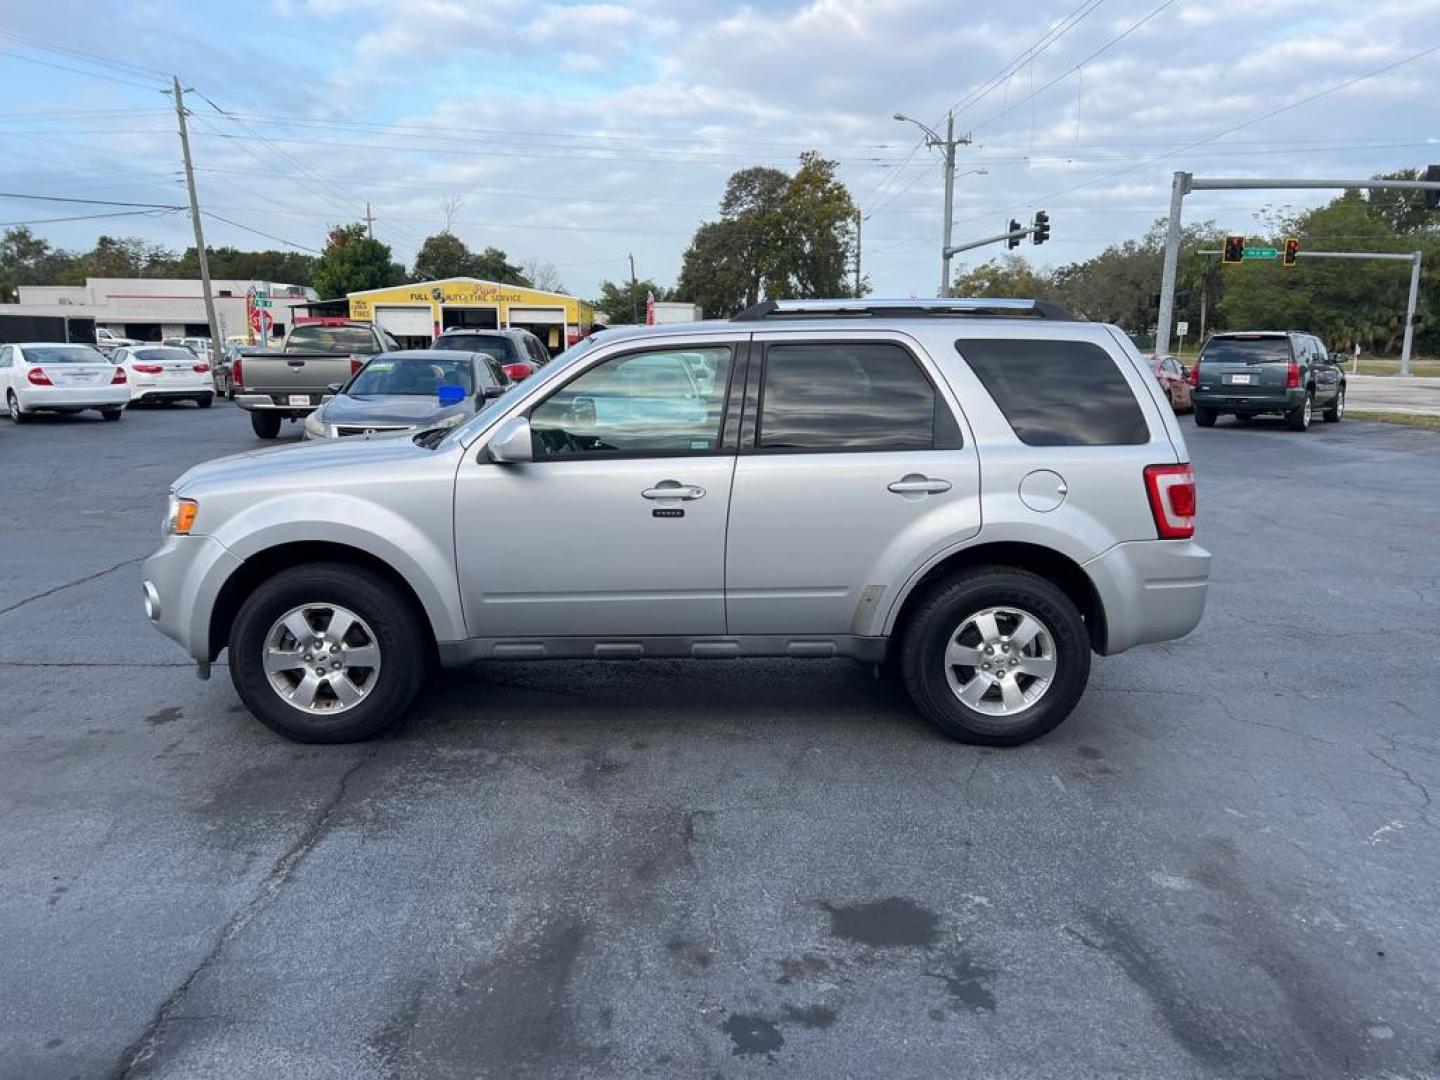
[[[167,536],[141,567],[151,625],[197,661],[210,660],[210,613],[240,559],[215,537]]]

